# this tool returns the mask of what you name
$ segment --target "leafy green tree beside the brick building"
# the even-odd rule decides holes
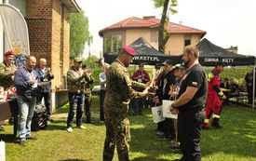
[[[70,56],[73,58],[80,57],[86,43],[89,46],[93,39],[88,31],[88,17],[84,13],[81,9],[80,13],[70,14]]]

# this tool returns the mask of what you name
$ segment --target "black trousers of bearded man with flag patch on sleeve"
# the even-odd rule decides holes
[[[205,111],[189,110],[178,115],[178,134],[183,158],[186,161],[200,161],[201,127],[206,117]]]

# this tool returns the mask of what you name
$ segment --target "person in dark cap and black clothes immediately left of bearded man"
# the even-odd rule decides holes
[[[158,95],[155,97],[154,101],[158,104],[162,104],[163,100],[173,100],[168,95],[169,90],[173,90],[175,87],[175,75],[172,71],[174,63],[172,60],[166,60],[162,63],[166,74],[162,78],[162,87]],[[175,140],[175,130],[174,130],[174,121],[173,119],[166,118],[165,121],[162,121],[158,124],[158,127],[162,129],[162,132],[157,132],[156,135],[159,138],[168,138],[170,141]]]

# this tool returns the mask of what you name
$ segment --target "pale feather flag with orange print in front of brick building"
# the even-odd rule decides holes
[[[15,54],[13,63],[23,66],[30,55],[27,23],[16,7],[0,5],[0,16],[5,32],[5,52],[12,50]]]

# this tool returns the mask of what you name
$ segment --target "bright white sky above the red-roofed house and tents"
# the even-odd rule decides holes
[[[161,19],[162,8],[152,0],[75,0],[85,10],[93,42],[86,45],[84,58],[100,57],[102,37],[99,31],[129,17],[155,16]],[[203,38],[219,47],[238,47],[238,54],[256,56],[255,0],[178,0],[178,14],[169,21],[207,32]]]

